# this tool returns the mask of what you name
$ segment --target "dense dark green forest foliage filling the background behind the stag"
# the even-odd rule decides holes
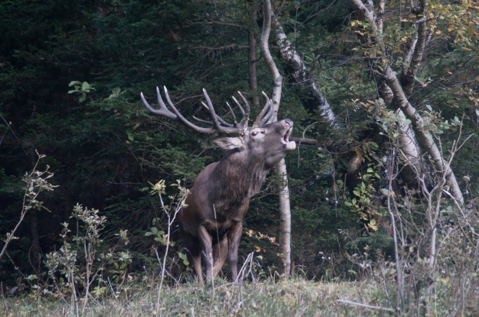
[[[166,85],[188,116],[198,112],[205,115],[200,111],[202,88],[208,90],[218,109],[238,90],[248,98],[262,100],[261,91],[271,91],[271,75],[259,48],[257,91],[248,83],[248,31],[254,31],[259,40],[262,26],[261,14],[251,19],[255,3],[0,3],[0,114],[4,118],[0,133],[5,133],[0,144],[0,233],[4,235],[18,221],[23,200],[21,179],[34,167],[35,150],[47,155],[39,170],[48,164],[54,173],[51,182],[58,185],[41,197],[48,210],[32,210],[21,225],[17,232],[20,239],[9,247],[11,260],[1,259],[1,281],[13,286],[21,276],[18,272],[28,275],[45,270],[34,255],[41,254],[44,259],[46,253],[59,249],[63,244],[59,239],[62,223],[71,221],[77,203],[99,209],[106,216],[102,248],[114,246],[133,254],[127,264],[132,276],[141,275],[144,267],[157,267],[151,247],[161,249],[164,243],[145,233],[153,232],[152,227],[165,230],[165,219],[158,197],[150,194],[150,183],[164,179],[171,185],[180,179],[189,188],[195,176],[224,152],[212,146],[208,141],[211,136],[151,116],[139,93],[156,103],[155,87]],[[398,72],[414,37],[413,22],[421,18],[407,11],[405,4],[401,0],[386,3],[388,19],[382,34],[388,63]],[[477,195],[479,175],[478,7],[468,0],[431,1],[428,5],[432,14],[428,21],[430,39],[410,101],[430,119],[431,133],[441,136],[446,157],[459,133],[459,121],[463,121],[462,133],[473,135],[452,163],[469,200]],[[394,115],[381,116],[369,107],[383,106],[377,70],[373,69],[379,49],[361,42],[367,22],[347,1],[277,1],[274,6],[281,10],[278,19],[302,56],[308,76],[319,84],[341,126],[338,130],[323,121],[307,88],[291,79],[292,70],[272,45],[276,64],[285,77],[278,117],[295,122],[294,136],[319,140],[314,146],[300,145],[286,157],[293,262],[309,278],[354,279],[356,273],[345,252],[367,244],[382,250],[386,258],[392,254],[389,216],[380,208],[376,213],[366,210],[355,198],[370,195],[384,202],[379,186],[386,182],[385,169],[380,162],[387,155],[390,136],[393,141],[395,138],[394,132],[388,131],[387,120],[394,120]],[[254,107],[253,116],[260,110]],[[226,114],[225,109],[220,111]],[[385,128],[382,134],[377,133],[378,122]],[[363,175],[356,175],[362,178],[346,184],[349,159],[354,154],[363,158],[365,153],[370,161],[364,162],[369,165]],[[355,188],[361,189],[361,183],[364,190],[359,193]],[[367,190],[368,184],[375,187]],[[176,188],[167,186],[167,194],[173,193]],[[270,272],[280,265],[273,238],[279,226],[276,194],[277,181],[271,176],[251,202],[240,247],[243,255],[251,251],[261,254],[262,264]],[[129,244],[118,243],[115,234],[120,230],[128,230]],[[354,242],[346,240],[349,235],[339,230],[348,230]],[[271,239],[264,239],[264,235]],[[175,251],[181,254],[180,243],[173,249],[171,257]],[[172,262],[171,273],[191,272],[185,266],[181,261]],[[119,272],[113,266],[111,271],[112,276]]]

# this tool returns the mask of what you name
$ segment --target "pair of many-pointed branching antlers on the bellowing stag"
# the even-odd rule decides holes
[[[233,112],[233,109],[231,108],[231,106],[227,102],[226,104],[228,106],[229,112],[231,114],[231,117],[234,120],[234,124],[231,124],[231,123],[226,122],[225,120],[223,120],[223,118],[221,118],[220,116],[217,115],[217,113],[215,112],[215,108],[213,107],[213,103],[211,102],[211,99],[209,98],[208,93],[206,92],[206,89],[203,89],[203,94],[205,95],[206,104],[203,101],[201,103],[210,112],[211,117],[213,118],[213,122],[212,122],[212,121],[208,121],[208,120],[199,119],[199,118],[196,118],[195,116],[193,116],[193,119],[198,121],[198,122],[202,122],[202,123],[205,123],[205,124],[208,124],[208,125],[212,125],[212,127],[203,128],[203,127],[199,127],[196,124],[186,120],[186,118],[184,118],[182,116],[180,111],[178,111],[178,109],[176,109],[173,102],[171,102],[171,98],[170,98],[170,95],[168,94],[168,89],[166,89],[166,86],[164,86],[163,88],[165,89],[166,101],[170,105],[173,112],[171,112],[166,107],[165,103],[163,102],[163,99],[161,98],[160,89],[158,87],[156,87],[156,94],[157,94],[157,98],[158,98],[158,104],[160,105],[160,109],[153,109],[148,104],[147,100],[143,96],[143,93],[140,93],[141,100],[143,100],[143,103],[145,104],[145,106],[147,107],[147,109],[151,113],[167,117],[171,120],[180,120],[187,127],[192,128],[194,131],[201,132],[201,133],[223,132],[223,133],[243,134],[244,131],[246,130],[246,128],[248,128],[248,120],[250,119],[251,108],[250,108],[250,104],[248,103],[248,100],[246,100],[246,98],[244,98],[244,96],[239,91],[238,91],[239,97],[241,97],[241,100],[245,104],[246,111],[243,109],[243,107],[238,102],[238,100],[236,100],[236,98],[232,97],[234,102],[238,105],[239,110],[241,111],[242,118],[239,122],[236,120],[235,113]],[[260,114],[256,118],[256,120],[254,120],[253,127],[258,127],[258,126],[262,126],[264,124],[271,123],[274,119],[273,103],[271,102],[271,100],[268,98],[268,96],[264,92],[263,92],[263,95],[266,98],[266,103],[264,105],[264,108],[261,110]]]

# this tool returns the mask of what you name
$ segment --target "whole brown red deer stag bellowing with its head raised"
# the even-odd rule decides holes
[[[195,120],[210,126],[199,127],[182,116],[171,102],[166,87],[166,100],[173,112],[163,102],[160,89],[156,89],[160,105],[158,110],[151,108],[141,93],[141,99],[150,112],[171,120],[179,120],[197,132],[237,135],[212,140],[229,152],[219,162],[209,164],[200,172],[186,198],[188,207],[178,213],[183,241],[200,283],[203,284],[202,254],[208,278],[217,275],[228,257],[232,277],[236,281],[242,222],[250,205],[250,198],[259,192],[269,170],[283,159],[286,153],[296,148],[296,143],[289,141],[293,121],[285,119],[272,122],[273,103],[263,93],[266,104],[253,126],[248,127],[250,105],[238,92],[246,111],[238,100],[232,97],[242,113],[242,119],[239,122],[236,120],[235,113],[227,102],[229,113],[234,120],[234,124],[228,123],[216,114],[211,99],[203,89],[207,105],[202,103],[209,111],[212,121],[193,116]]]

